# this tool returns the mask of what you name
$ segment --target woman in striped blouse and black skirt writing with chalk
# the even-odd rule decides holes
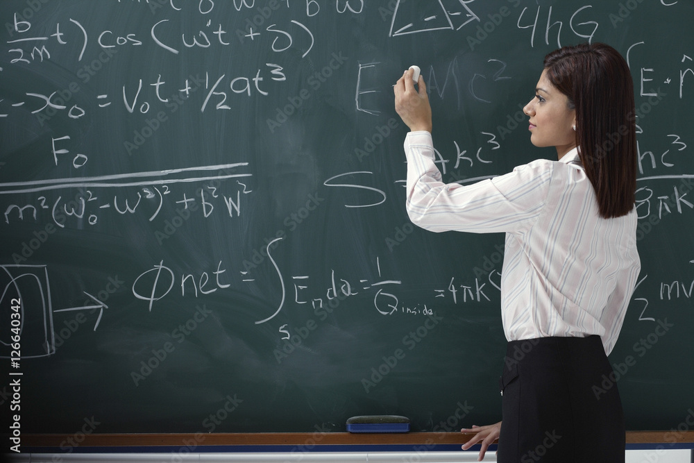
[[[624,58],[605,44],[548,54],[523,112],[532,144],[555,146],[558,160],[468,186],[441,183],[423,78],[416,91],[406,71],[394,91],[411,131],[412,222],[437,232],[506,233],[502,421],[463,429],[474,435],[462,448],[481,443],[482,460],[498,438],[499,462],[624,462],[617,387],[601,386],[641,268],[634,90]]]

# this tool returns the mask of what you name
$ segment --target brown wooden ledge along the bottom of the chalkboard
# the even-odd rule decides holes
[[[23,435],[22,446],[65,448],[74,441],[81,447],[138,446],[314,446],[339,445],[445,445],[464,444],[469,436],[459,432],[407,432],[402,434],[351,434],[349,432],[260,432],[213,434],[91,434]],[[694,448],[694,431],[627,431],[627,446],[652,444],[662,448]],[[689,445],[691,444],[691,445]],[[117,451],[116,449],[114,449]],[[316,449],[317,450],[317,449]]]

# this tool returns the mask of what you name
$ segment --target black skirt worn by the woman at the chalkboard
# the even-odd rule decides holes
[[[623,463],[616,378],[599,336],[509,342],[500,463]]]

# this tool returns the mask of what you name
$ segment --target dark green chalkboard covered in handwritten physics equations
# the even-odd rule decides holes
[[[521,108],[545,54],[589,40],[627,56],[638,110],[643,270],[610,357],[627,428],[688,416],[691,1],[5,0],[0,19],[23,432],[498,421],[503,236],[409,222],[392,85],[421,67],[443,178],[470,183],[555,155]]]

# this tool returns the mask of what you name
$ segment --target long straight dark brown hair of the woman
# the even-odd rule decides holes
[[[636,193],[636,112],[627,62],[609,45],[595,43],[552,51],[544,67],[576,110],[576,144],[600,216],[627,214]]]

